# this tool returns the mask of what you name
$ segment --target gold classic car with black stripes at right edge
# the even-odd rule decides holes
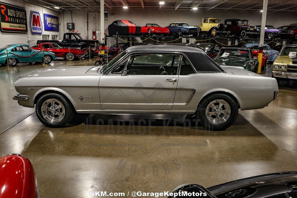
[[[272,64],[272,76],[279,82],[280,78],[297,79],[297,45],[285,45]]]

